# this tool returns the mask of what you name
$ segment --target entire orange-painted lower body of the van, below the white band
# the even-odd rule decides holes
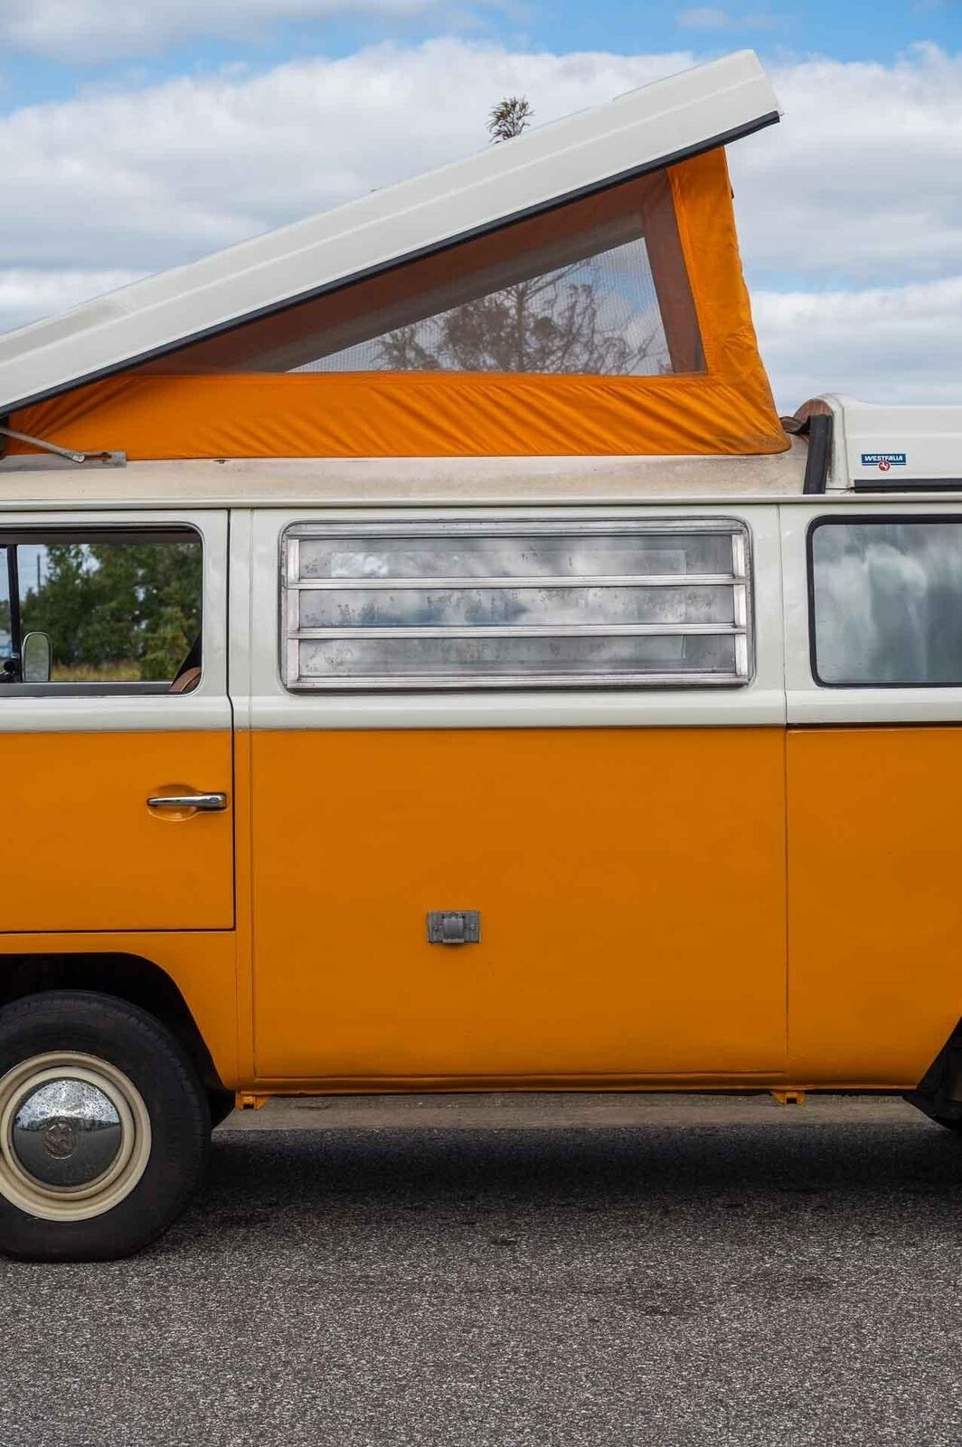
[[[962,1016],[959,728],[3,747],[0,955],[152,961],[231,1090],[911,1088]],[[230,813],[152,816],[172,780]],[[480,945],[427,943],[451,907]]]

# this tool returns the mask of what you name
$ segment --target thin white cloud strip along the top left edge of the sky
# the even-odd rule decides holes
[[[498,0],[472,0],[470,9],[492,4]],[[285,20],[370,19],[383,26],[454,13],[453,0],[0,0],[0,42],[78,64],[152,55],[198,36],[256,41]]]

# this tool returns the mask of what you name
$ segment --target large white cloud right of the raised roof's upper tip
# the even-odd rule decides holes
[[[962,55],[772,69],[780,126],[732,148],[745,255],[819,285],[921,281],[962,256]]]

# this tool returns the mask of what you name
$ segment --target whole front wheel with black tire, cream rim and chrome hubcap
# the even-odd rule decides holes
[[[194,1194],[210,1107],[179,1042],[111,996],[56,990],[0,1010],[0,1250],[113,1260]]]

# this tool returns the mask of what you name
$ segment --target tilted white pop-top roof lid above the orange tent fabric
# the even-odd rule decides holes
[[[778,120],[751,51],[0,337],[0,417]]]

